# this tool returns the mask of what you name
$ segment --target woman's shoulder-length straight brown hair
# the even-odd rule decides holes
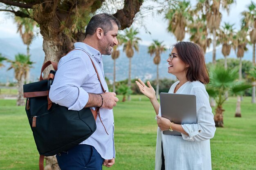
[[[207,71],[204,52],[202,48],[193,42],[177,42],[174,47],[180,57],[185,63],[189,64],[186,70],[186,78],[190,81],[200,81],[203,84],[209,83],[209,73]]]

